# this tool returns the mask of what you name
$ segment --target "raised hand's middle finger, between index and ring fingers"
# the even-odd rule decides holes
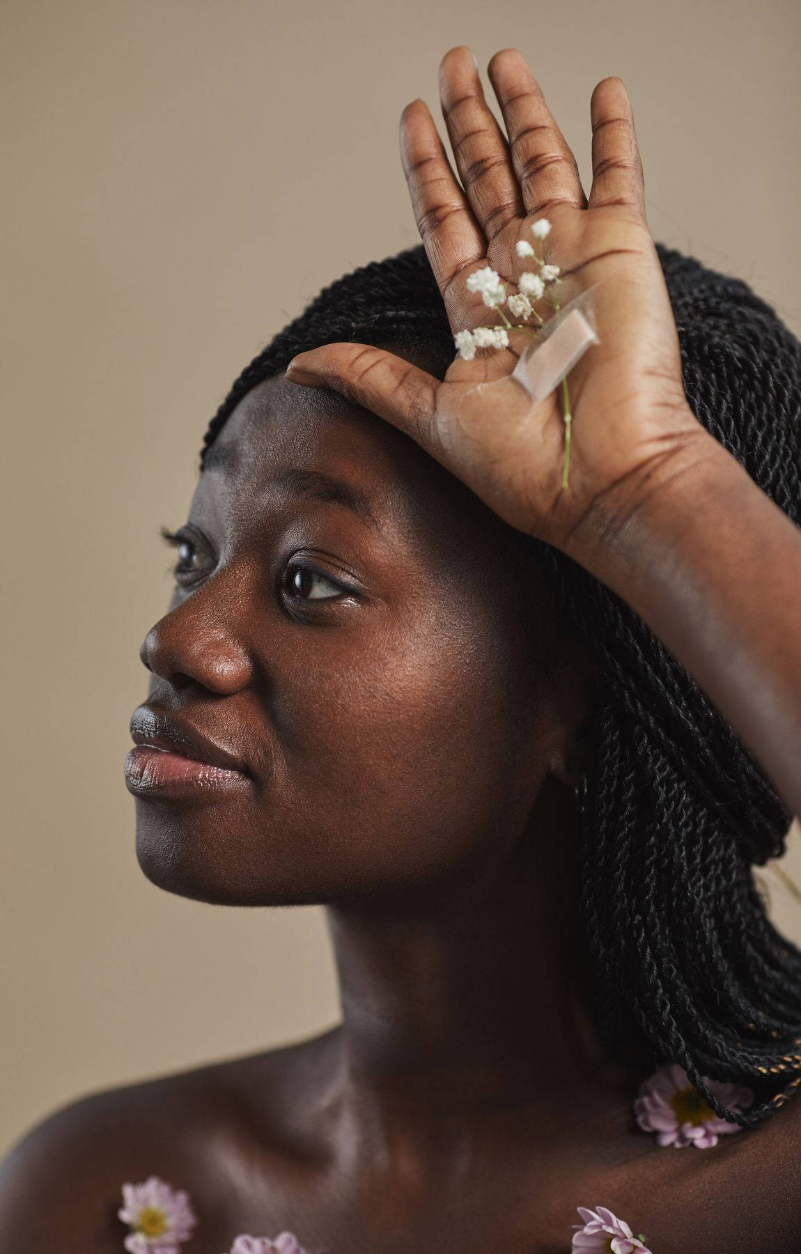
[[[464,45],[442,58],[440,100],[459,177],[489,243],[525,213],[506,137],[484,99],[473,53]]]

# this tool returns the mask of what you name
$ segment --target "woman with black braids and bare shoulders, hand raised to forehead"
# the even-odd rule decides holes
[[[441,65],[460,182],[404,113],[430,268],[332,285],[221,406],[142,647],[144,873],[325,903],[342,1023],[55,1115],[6,1164],[9,1254],[120,1249],[119,1189],[152,1174],[203,1254],[281,1229],[545,1254],[598,1203],[656,1254],[798,1249],[801,956],[750,865],[801,813],[801,345],[654,246],[620,79],[587,201],[520,54],[489,74],[508,138],[469,50]],[[520,336],[453,361],[491,325],[470,276],[513,283],[545,213],[598,336],[567,489],[564,390],[510,384]],[[643,1131],[668,1062],[741,1135]]]

